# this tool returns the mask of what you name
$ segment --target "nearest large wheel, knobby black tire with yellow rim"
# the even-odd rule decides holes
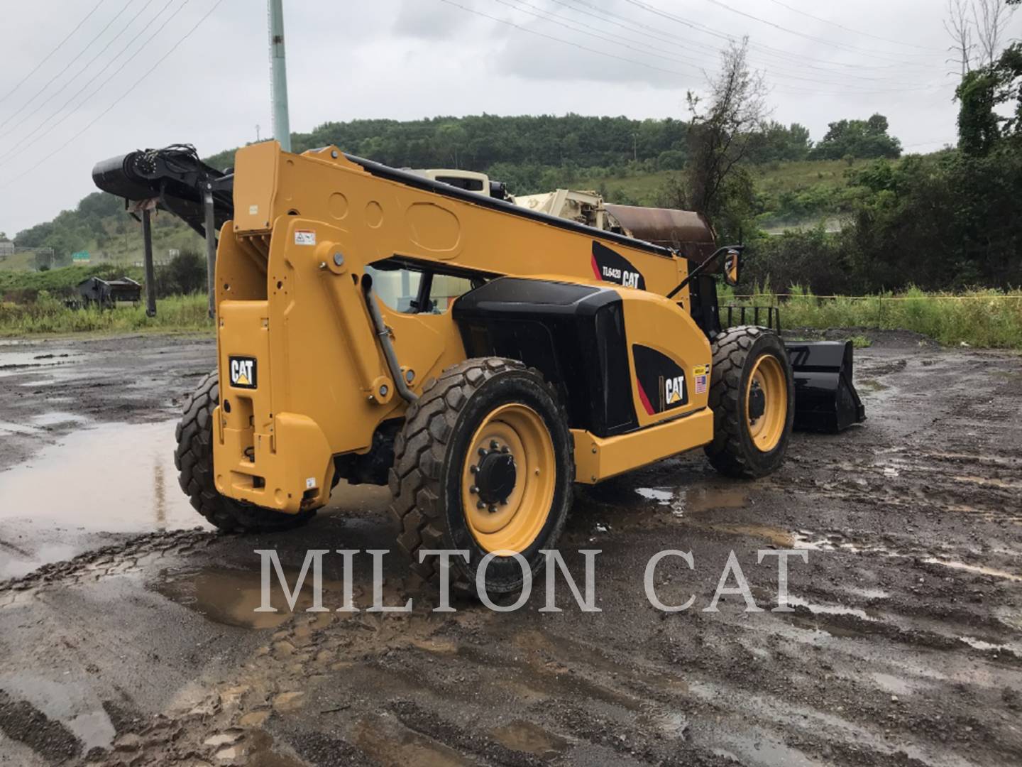
[[[455,582],[474,584],[480,560],[499,550],[517,551],[535,573],[564,527],[573,483],[567,414],[543,375],[499,357],[466,360],[426,382],[394,441],[398,544],[427,581],[439,561],[420,562],[421,549],[467,550],[467,562],[451,557]],[[512,556],[486,569],[492,595],[522,582]]]

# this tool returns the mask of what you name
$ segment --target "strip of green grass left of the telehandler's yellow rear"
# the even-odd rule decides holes
[[[213,331],[204,295],[173,296],[156,302],[156,316],[145,307],[68,309],[50,296],[26,305],[0,304],[0,336],[34,333],[122,333],[144,330]]]

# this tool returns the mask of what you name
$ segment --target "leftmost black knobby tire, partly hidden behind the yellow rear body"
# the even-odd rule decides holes
[[[316,515],[315,509],[285,514],[217,492],[213,475],[213,411],[219,404],[220,386],[215,370],[199,381],[188,398],[177,427],[174,465],[179,471],[178,483],[195,510],[224,531],[272,533],[309,522]]]

